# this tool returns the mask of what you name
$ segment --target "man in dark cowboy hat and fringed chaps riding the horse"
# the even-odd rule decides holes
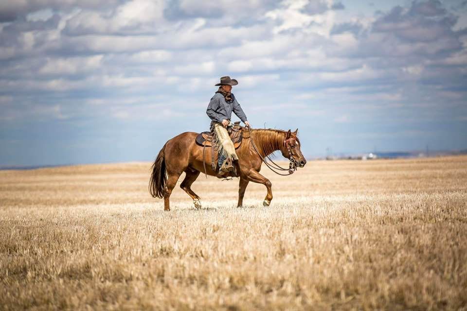
[[[206,110],[206,113],[212,120],[211,131],[214,132],[214,143],[219,154],[217,165],[220,166],[220,170],[223,173],[233,171],[233,161],[238,160],[235,154],[234,143],[227,132],[227,127],[231,123],[232,111],[246,126],[250,127],[247,116],[232,93],[232,86],[236,86],[237,84],[237,80],[231,79],[229,76],[221,77],[220,83],[216,84],[216,86],[219,86],[219,89],[213,98],[211,98],[211,102]]]

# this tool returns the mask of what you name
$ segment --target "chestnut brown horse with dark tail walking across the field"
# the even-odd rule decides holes
[[[276,129],[242,128],[242,130],[243,133],[250,135],[244,135],[240,147],[236,150],[238,160],[234,161],[234,172],[224,175],[216,173],[211,165],[205,165],[211,163],[213,150],[204,149],[195,142],[198,133],[185,132],[169,139],[151,166],[149,193],[154,198],[163,198],[164,210],[170,210],[170,194],[180,175],[185,172],[180,188],[193,199],[195,208],[201,208],[200,197],[191,189],[191,185],[202,172],[218,178],[240,177],[237,207],[242,207],[243,196],[250,181],[265,185],[267,194],[263,206],[269,206],[272,200],[272,184],[268,178],[259,173],[261,165],[265,157],[280,151],[285,158],[290,159],[290,165],[304,167],[306,160],[300,149],[298,129],[294,132]],[[268,165],[268,162],[265,163]]]

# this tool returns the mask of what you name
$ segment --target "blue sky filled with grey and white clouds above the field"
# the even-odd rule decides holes
[[[309,158],[466,149],[467,1],[1,1],[0,166],[153,160],[225,75]]]

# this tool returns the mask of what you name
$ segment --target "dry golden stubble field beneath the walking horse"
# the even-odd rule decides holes
[[[466,156],[263,168],[270,207],[200,175],[170,212],[149,167],[0,171],[0,309],[467,310]]]

